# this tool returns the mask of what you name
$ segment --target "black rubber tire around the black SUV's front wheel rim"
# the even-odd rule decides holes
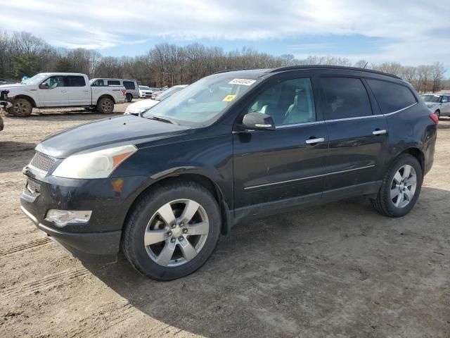
[[[150,258],[143,242],[144,233],[149,220],[158,209],[179,199],[190,199],[203,207],[208,218],[209,232],[197,256],[182,265],[162,266]],[[211,192],[195,182],[174,182],[150,189],[136,202],[124,227],[122,251],[139,273],[155,280],[174,280],[193,273],[206,263],[217,245],[220,229],[219,206]]]

